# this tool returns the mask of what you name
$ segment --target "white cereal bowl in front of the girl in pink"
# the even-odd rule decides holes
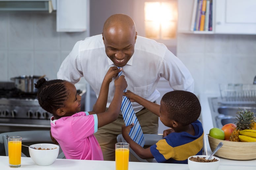
[[[28,151],[29,151],[30,157],[37,165],[41,165],[41,166],[51,165],[59,155],[59,146],[55,144],[39,143],[39,144],[30,145],[30,146],[33,148],[36,148],[36,149],[32,149],[29,147]],[[38,150],[38,148],[41,148],[41,149],[48,148],[49,150]]]

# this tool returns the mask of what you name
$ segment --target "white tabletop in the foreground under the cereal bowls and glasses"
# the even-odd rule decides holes
[[[1,169],[11,169],[8,165],[8,157],[0,156]],[[246,162],[240,164],[240,166],[225,165],[220,162],[219,170],[255,170],[256,164],[253,166],[247,165]],[[18,169],[30,170],[30,169],[47,169],[47,170],[80,170],[80,169],[93,169],[93,170],[114,170],[115,161],[100,161],[100,160],[75,160],[75,159],[56,159],[53,164],[49,166],[36,165],[29,157],[21,158],[21,167]],[[174,163],[149,163],[149,162],[129,162],[130,170],[189,170],[188,164],[174,164]]]

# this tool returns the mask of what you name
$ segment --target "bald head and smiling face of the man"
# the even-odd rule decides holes
[[[112,15],[104,24],[102,33],[105,52],[118,67],[123,67],[131,59],[137,39],[133,20],[124,14]]]

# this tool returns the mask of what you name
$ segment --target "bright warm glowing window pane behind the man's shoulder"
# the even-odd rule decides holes
[[[145,33],[152,39],[176,37],[177,4],[172,2],[145,2]]]

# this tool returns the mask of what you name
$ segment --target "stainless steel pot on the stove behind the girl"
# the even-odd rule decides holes
[[[35,88],[34,84],[44,76],[22,75],[18,77],[12,77],[11,80],[14,81],[15,87],[21,91],[26,93],[36,93],[37,88]]]

